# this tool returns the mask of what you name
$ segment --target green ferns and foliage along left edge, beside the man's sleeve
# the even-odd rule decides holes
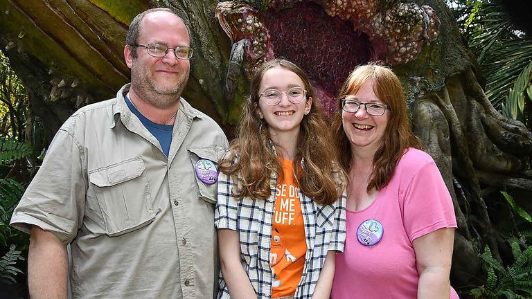
[[[0,285],[19,284],[15,289],[24,289],[28,235],[9,222],[39,165],[33,123],[24,85],[0,52]]]

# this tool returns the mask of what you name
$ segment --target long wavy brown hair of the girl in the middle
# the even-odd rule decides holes
[[[317,203],[333,203],[341,196],[346,177],[336,162],[339,155],[332,132],[307,75],[287,60],[266,62],[254,74],[249,98],[240,116],[237,137],[231,142],[229,154],[220,161],[220,171],[233,177],[236,188],[232,192],[237,199],[267,199],[272,193],[270,176],[275,172],[279,180],[283,177],[283,167],[272,147],[268,125],[257,114],[260,82],[266,71],[276,66],[296,73],[305,84],[307,99],[312,97],[310,112],[303,116],[297,136],[294,179],[300,190]]]

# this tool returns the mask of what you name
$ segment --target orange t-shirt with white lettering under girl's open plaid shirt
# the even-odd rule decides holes
[[[301,280],[307,243],[299,201],[299,188],[294,183],[292,161],[279,158],[283,181],[278,181],[272,226],[269,264],[272,266],[272,298],[292,296]]]

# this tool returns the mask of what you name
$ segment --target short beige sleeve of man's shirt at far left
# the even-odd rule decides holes
[[[82,146],[60,129],[13,211],[10,224],[26,233],[31,225],[39,226],[62,242],[71,242],[85,210],[88,183],[83,165]]]

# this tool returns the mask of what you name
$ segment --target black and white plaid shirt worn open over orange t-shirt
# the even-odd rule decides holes
[[[271,195],[268,199],[245,197],[237,200],[231,195],[236,182],[227,174],[218,176],[218,202],[215,226],[236,230],[240,237],[241,262],[257,298],[272,298],[272,268],[269,264],[272,223],[275,207],[277,175],[270,177]],[[307,253],[305,265],[294,298],[311,298],[323,268],[327,252],[344,251],[346,239],[346,194],[335,203],[321,206],[299,191],[301,212],[305,224]],[[231,298],[220,273],[218,298]]]

